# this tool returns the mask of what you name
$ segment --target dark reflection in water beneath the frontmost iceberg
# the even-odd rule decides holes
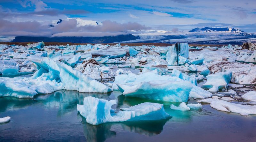
[[[133,133],[139,133],[148,137],[155,136],[163,131],[164,124],[169,120],[127,121],[120,123],[103,123],[100,125],[91,125],[86,123],[86,119],[83,116],[79,116],[82,118],[82,123],[84,125],[84,136],[87,141],[90,142],[104,142],[108,138],[115,138],[117,135],[115,130],[120,131],[120,129]]]

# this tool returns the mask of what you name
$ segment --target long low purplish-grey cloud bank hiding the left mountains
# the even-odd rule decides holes
[[[117,23],[103,21],[102,25],[77,26],[76,19],[62,20],[54,27],[37,21],[10,22],[1,20],[0,33],[6,36],[115,36],[134,33],[132,31],[148,30],[150,27],[135,22]]]

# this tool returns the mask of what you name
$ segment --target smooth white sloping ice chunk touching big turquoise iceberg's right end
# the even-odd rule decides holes
[[[205,99],[212,97],[212,93],[209,91],[206,91],[198,86],[193,85],[193,88],[191,89],[189,93],[190,98],[199,98],[199,99]]]

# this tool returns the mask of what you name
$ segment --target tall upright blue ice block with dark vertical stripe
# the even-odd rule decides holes
[[[168,65],[185,64],[186,62],[184,62],[184,60],[187,60],[188,58],[188,48],[188,43],[177,42],[175,45],[170,46],[166,53],[166,61],[168,62]],[[162,58],[164,58],[164,55],[162,55]]]

